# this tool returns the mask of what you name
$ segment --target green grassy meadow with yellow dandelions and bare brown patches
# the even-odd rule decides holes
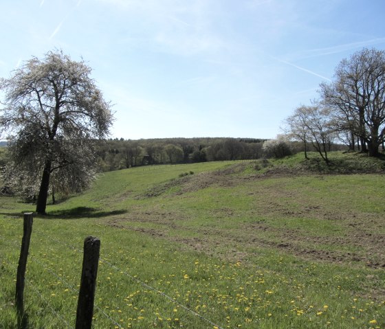
[[[34,217],[25,328],[74,328],[87,236],[94,328],[385,328],[384,161],[330,156],[102,174]],[[0,197],[0,328],[30,211]]]

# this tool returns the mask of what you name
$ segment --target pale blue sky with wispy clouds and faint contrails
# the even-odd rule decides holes
[[[0,76],[63,49],[92,67],[111,137],[274,138],[342,58],[385,49],[383,0],[14,0]]]

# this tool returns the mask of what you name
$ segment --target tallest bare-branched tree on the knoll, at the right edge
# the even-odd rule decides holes
[[[357,136],[362,150],[377,156],[385,139],[385,52],[362,49],[336,68],[334,81],[320,85],[322,100],[336,111],[340,127]]]

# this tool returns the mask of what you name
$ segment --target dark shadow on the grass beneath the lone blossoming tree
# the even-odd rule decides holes
[[[28,211],[30,212],[30,211]],[[91,207],[75,207],[72,209],[65,209],[65,210],[56,210],[53,212],[48,212],[45,215],[39,215],[34,213],[34,218],[46,218],[46,219],[80,219],[80,218],[102,218],[102,217],[109,217],[109,216],[115,216],[115,215],[121,215],[126,214],[126,209],[120,209],[120,210],[113,210],[111,212],[103,212],[100,211],[100,209],[97,208],[91,208]],[[20,217],[23,218],[24,212],[0,212],[0,215],[6,215],[6,216],[12,216],[12,217]]]

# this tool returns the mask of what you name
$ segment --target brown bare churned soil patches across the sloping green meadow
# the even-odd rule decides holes
[[[216,172],[203,172],[179,177],[173,181],[159,184],[137,198],[155,198],[157,196],[174,197],[189,192],[195,192],[210,187],[231,188],[245,183],[258,184],[259,180],[281,177],[312,176],[315,179],[324,179],[320,174],[311,173],[304,168],[277,167],[270,168],[263,174],[242,174],[250,163],[239,163],[224,170]],[[254,183],[253,183],[254,185]],[[371,268],[385,268],[385,235],[377,233],[384,225],[384,216],[381,214],[363,214],[347,211],[346,209],[330,209],[327,204],[312,205],[303,201],[296,190],[277,190],[276,185],[264,187],[263,193],[267,194],[263,204],[258,209],[250,209],[255,214],[256,222],[239,223],[232,229],[223,229],[219,225],[203,229],[181,225],[181,221],[189,220],[184,212],[168,212],[165,209],[152,209],[151,212],[130,212],[125,218],[111,220],[110,225],[126,227],[141,233],[167,240],[180,242],[190,249],[206,253],[223,253],[225,258],[245,258],[247,253],[239,250],[254,247],[274,248],[287,253],[292,253],[300,258],[326,262],[349,264],[365,264]],[[259,190],[251,190],[248,195]],[[283,199],[285,201],[283,201]],[[298,203],[296,207],[293,202]],[[208,210],[214,218],[234,218],[238,214],[231,207],[217,207]],[[252,216],[252,215],[249,215]],[[284,224],[285,219],[306,218],[309,220],[327,220],[330,225],[336,225],[340,234],[322,235],[307,231],[305,228],[290,228],[281,225],[263,223],[258,218],[280,218]],[[136,223],[127,225],[127,222]],[[140,223],[145,223],[140,227]],[[185,223],[186,224],[186,223]],[[150,227],[151,225],[155,225]],[[179,232],[190,232],[188,234]],[[173,232],[173,234],[170,234]],[[233,247],[234,246],[234,247]]]

